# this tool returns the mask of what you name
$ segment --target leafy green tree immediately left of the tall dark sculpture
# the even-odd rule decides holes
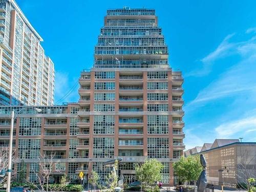
[[[202,165],[200,162],[200,156],[188,156],[181,157],[178,162],[173,164],[174,173],[179,176],[179,181],[186,182],[198,180],[201,172]]]

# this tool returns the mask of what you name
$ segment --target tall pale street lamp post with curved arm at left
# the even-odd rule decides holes
[[[12,172],[12,139],[13,139],[13,125],[14,125],[14,119],[16,118],[16,115],[20,112],[22,112],[25,109],[35,109],[37,112],[41,112],[42,110],[34,108],[34,107],[25,107],[19,111],[12,110],[11,112],[11,130],[10,130],[10,142],[9,142],[9,157],[8,157],[8,178],[7,178],[7,192],[10,192],[11,189],[11,172]]]

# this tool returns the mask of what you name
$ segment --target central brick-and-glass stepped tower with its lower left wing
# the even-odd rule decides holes
[[[156,158],[164,165],[162,182],[173,185],[172,162],[185,148],[183,78],[168,65],[155,10],[108,10],[94,59],[93,68],[81,72],[77,103],[37,106],[39,114],[28,109],[17,117],[13,143],[27,164],[26,177],[36,181],[39,154],[55,154],[63,170],[55,179],[92,169],[103,178],[110,167],[102,163],[120,157],[119,175],[128,183],[135,180],[135,163]],[[13,108],[20,107],[0,108],[0,144],[6,146]]]

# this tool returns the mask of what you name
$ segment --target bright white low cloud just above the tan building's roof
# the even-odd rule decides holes
[[[215,131],[219,137],[229,138],[230,136],[238,133],[256,134],[256,116],[245,117],[239,120],[233,120],[227,123],[223,123],[216,127]]]

